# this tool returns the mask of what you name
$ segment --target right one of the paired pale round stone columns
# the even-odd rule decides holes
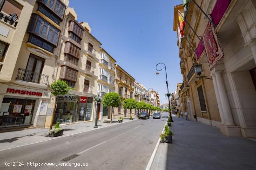
[[[223,112],[223,117],[225,119],[225,125],[234,126],[235,124],[234,124],[232,112],[229,105],[229,99],[228,99],[228,95],[227,95],[224,81],[222,78],[222,71],[215,72],[215,75],[216,75],[216,83],[217,83],[218,92],[219,92],[219,98],[222,103],[222,112]]]

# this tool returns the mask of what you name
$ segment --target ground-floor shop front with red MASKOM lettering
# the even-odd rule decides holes
[[[34,124],[43,96],[42,90],[18,86],[7,86],[5,89],[6,92],[0,94],[0,128]]]

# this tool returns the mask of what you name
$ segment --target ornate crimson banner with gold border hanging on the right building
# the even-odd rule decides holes
[[[218,41],[216,32],[210,22],[208,22],[202,38],[209,62],[209,67],[210,70],[212,70],[216,64],[223,59],[224,54],[222,52],[220,42]]]

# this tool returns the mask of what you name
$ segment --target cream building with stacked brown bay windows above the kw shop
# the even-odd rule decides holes
[[[54,123],[92,121],[96,110],[94,98],[101,86],[98,78],[104,81],[104,74],[99,74],[101,42],[90,33],[88,23],[77,21],[74,8],[67,7],[64,19],[54,77],[74,90],[58,97]],[[101,91],[105,89],[101,86]],[[101,118],[99,109],[98,118]]]

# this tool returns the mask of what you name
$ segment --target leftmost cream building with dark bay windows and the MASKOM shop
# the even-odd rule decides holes
[[[49,86],[68,3],[1,1],[0,128],[45,127],[49,122]]]

